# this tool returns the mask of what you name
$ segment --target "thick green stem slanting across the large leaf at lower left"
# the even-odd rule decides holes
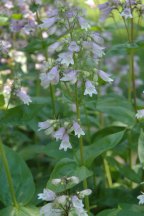
[[[18,208],[19,205],[18,205],[17,200],[16,200],[14,185],[13,185],[13,181],[12,181],[12,177],[11,177],[8,161],[7,161],[7,158],[6,158],[5,150],[3,148],[3,144],[2,144],[1,139],[0,139],[0,155],[1,155],[1,159],[2,159],[3,165],[4,165],[4,170],[5,170],[5,173],[6,173],[6,177],[7,177],[7,181],[8,181],[8,185],[9,185],[12,201],[13,201],[13,205],[16,208]]]

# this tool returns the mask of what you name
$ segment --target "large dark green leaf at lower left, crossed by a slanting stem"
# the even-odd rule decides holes
[[[12,176],[16,200],[21,204],[27,204],[31,200],[35,185],[32,174],[23,159],[8,147],[4,147]],[[9,190],[5,169],[0,155],[0,200],[5,206],[12,205],[12,198]]]

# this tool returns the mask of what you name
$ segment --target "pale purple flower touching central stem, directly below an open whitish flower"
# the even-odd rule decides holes
[[[77,72],[75,70],[67,71],[60,80],[75,84],[77,82]]]

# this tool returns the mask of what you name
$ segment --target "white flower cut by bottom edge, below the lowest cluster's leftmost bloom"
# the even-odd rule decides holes
[[[44,205],[40,209],[40,216],[61,216],[62,211],[60,209],[55,209],[52,203]]]

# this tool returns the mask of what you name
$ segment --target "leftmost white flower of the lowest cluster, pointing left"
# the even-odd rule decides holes
[[[42,199],[45,201],[53,201],[56,198],[56,194],[49,189],[43,189],[43,193],[38,194],[38,199]]]

